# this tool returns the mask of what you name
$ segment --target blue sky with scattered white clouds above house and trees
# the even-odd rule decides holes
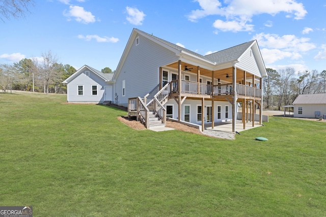
[[[62,64],[115,70],[132,28],[205,55],[256,39],[266,68],[326,70],[325,0],[37,1],[0,20],[0,64],[51,51]]]

